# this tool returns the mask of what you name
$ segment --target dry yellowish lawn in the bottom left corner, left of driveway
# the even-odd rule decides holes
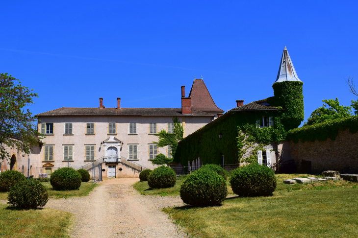
[[[17,210],[0,204],[0,238],[68,238],[70,218],[59,210]]]

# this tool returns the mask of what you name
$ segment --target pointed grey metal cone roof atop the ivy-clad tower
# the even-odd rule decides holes
[[[275,83],[284,82],[284,81],[300,81],[302,82],[293,67],[292,60],[290,55],[288,54],[287,48],[284,47],[282,57],[281,57],[281,64],[279,68],[279,73],[277,74],[277,79]]]

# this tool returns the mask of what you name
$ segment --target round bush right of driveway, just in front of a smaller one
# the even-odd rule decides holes
[[[177,182],[175,171],[166,166],[159,166],[148,177],[148,185],[153,189],[173,187]]]

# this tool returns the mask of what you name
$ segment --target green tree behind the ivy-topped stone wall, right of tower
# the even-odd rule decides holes
[[[352,116],[352,107],[339,105],[338,98],[324,99],[323,107],[319,107],[311,113],[304,126],[321,123],[338,118],[348,118]]]

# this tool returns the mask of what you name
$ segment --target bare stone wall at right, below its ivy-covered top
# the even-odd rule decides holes
[[[281,146],[282,154],[290,150],[289,156],[296,162],[298,171],[310,169],[312,173],[325,170],[338,170],[340,173],[358,172],[358,133],[352,134],[349,130],[339,130],[334,141],[324,142],[290,142],[290,146]],[[280,150],[280,146],[279,146]]]

